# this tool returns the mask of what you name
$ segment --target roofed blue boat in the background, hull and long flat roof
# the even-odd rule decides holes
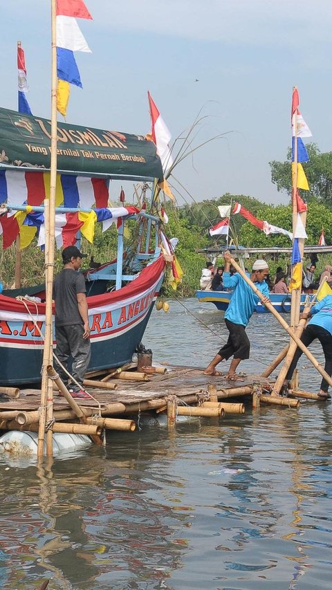
[[[277,257],[279,255],[291,255],[292,248],[244,248],[243,246],[221,246],[218,250],[216,248],[205,248],[204,250],[199,250],[199,252],[204,253],[208,256],[216,256],[222,255],[226,249],[231,250],[234,254],[234,257],[239,257],[240,260],[244,261],[246,258],[251,256],[261,257],[268,257],[273,256]],[[305,246],[304,247],[304,255],[310,257],[311,255],[315,254],[329,254],[332,252],[332,246]],[[228,308],[228,304],[230,303],[230,298],[232,297],[232,292],[230,291],[211,291],[210,289],[201,290],[199,289],[196,291],[196,297],[199,299],[201,303],[212,303],[216,306],[217,309],[220,311],[226,311]],[[306,297],[308,297],[308,293],[301,293],[301,303],[300,303],[300,311],[304,309],[304,303],[306,302]],[[310,295],[309,295],[310,297]],[[275,308],[276,311],[279,313],[291,313],[291,293],[270,293],[269,295],[270,302]],[[256,313],[270,313],[268,308],[260,301],[258,302],[257,306],[255,307]]]

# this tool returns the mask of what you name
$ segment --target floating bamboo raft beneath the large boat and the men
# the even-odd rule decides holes
[[[49,374],[55,374],[48,367]],[[91,399],[73,399],[55,374],[52,432],[87,434],[101,444],[102,430],[133,432],[143,413],[167,414],[169,427],[176,416],[230,418],[244,414],[246,405],[299,407],[299,398],[321,400],[316,394],[293,389],[290,397],[273,396],[273,380],[259,375],[243,376],[241,382],[203,374],[198,367],[149,367],[147,373],[114,370],[102,376],[87,375],[84,381]],[[54,377],[53,377],[54,379]],[[296,383],[295,383],[296,385]],[[59,391],[59,389],[61,391]],[[39,389],[0,387],[0,430],[38,432],[41,406]]]

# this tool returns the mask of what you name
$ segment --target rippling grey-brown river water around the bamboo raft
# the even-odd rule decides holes
[[[227,336],[210,304],[184,303]],[[261,371],[286,335],[271,315],[248,333],[256,360],[241,370]],[[203,366],[221,339],[171,302],[144,343],[155,360]],[[316,391],[320,378],[302,369],[301,385]],[[330,588],[331,406],[113,432],[106,449],[37,472],[1,458],[1,589]]]

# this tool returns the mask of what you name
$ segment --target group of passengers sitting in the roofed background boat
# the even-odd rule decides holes
[[[215,266],[216,260],[208,261],[206,267],[202,269],[201,279],[199,286],[204,291],[229,291],[223,284],[223,273],[225,270],[224,266]],[[248,272],[248,269],[245,269]],[[230,266],[230,275],[234,275],[237,271],[235,268]],[[302,291],[304,293],[313,293],[322,281],[326,279],[326,282],[332,287],[332,266],[326,264],[322,273],[316,275],[316,265],[313,261],[306,264],[303,270],[302,277]],[[265,282],[268,285],[270,293],[289,293],[289,282],[291,276],[286,273],[282,266],[278,266],[275,272],[275,278],[272,279],[270,274],[266,275]]]

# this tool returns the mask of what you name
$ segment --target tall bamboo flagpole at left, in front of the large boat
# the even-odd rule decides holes
[[[51,0],[51,30],[52,30],[52,85],[51,85],[51,127],[50,127],[50,199],[45,208],[45,274],[46,274],[46,319],[45,341],[42,366],[42,395],[38,430],[37,457],[44,454],[44,436],[46,419],[53,418],[53,382],[48,378],[47,367],[53,365],[53,313],[52,293],[54,275],[55,250],[55,192],[57,183],[57,44],[56,44],[56,13],[57,1]],[[47,205],[47,203],[46,203]],[[53,455],[52,431],[46,436],[46,454]]]

